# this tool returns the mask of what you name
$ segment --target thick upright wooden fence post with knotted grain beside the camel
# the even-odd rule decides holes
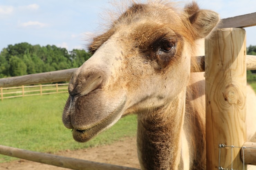
[[[243,170],[240,148],[246,141],[246,33],[218,29],[205,41],[207,170]],[[247,167],[245,167],[247,169]]]

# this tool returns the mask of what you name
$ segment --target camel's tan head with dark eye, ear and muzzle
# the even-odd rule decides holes
[[[219,22],[217,13],[196,3],[132,4],[95,37],[93,56],[73,74],[63,123],[85,142],[122,116],[165,107],[186,89],[197,39]]]

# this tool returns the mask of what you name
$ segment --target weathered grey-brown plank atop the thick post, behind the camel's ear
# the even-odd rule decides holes
[[[256,26],[256,12],[222,19],[219,28],[245,28]]]

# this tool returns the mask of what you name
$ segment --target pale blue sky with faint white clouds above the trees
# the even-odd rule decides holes
[[[196,2],[202,9],[218,12],[221,18],[256,12],[256,0]],[[86,49],[88,35],[100,30],[102,18],[107,20],[106,9],[112,9],[109,0],[0,0],[0,51],[21,42],[56,45],[68,51]],[[247,47],[255,46],[256,27],[245,29]]]

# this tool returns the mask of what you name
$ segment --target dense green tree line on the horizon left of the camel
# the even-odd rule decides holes
[[[80,67],[91,54],[85,50],[55,45],[31,45],[27,42],[8,45],[0,52],[0,78],[22,76]]]

